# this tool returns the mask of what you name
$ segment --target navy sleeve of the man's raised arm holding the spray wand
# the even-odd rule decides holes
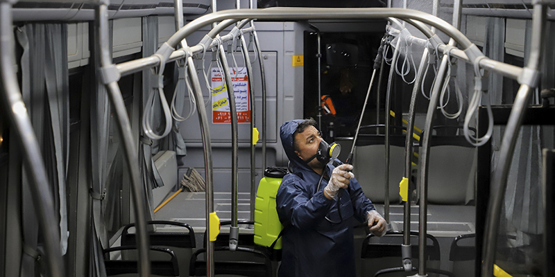
[[[314,196],[302,188],[298,177],[285,178],[276,197],[276,209],[280,218],[287,219],[298,229],[312,229],[330,211],[332,199],[323,190]]]

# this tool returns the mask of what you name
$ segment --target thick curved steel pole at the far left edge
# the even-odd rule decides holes
[[[44,238],[46,261],[50,276],[64,276],[65,269],[60,252],[60,233],[58,220],[54,211],[53,197],[46,177],[46,168],[42,161],[42,154],[31,125],[31,118],[19,91],[17,77],[13,71],[12,57],[15,56],[12,47],[12,3],[16,1],[0,1],[0,86],[1,102],[5,115],[10,118],[10,125],[21,142],[23,161],[30,175],[31,196],[35,202],[35,213],[40,222],[40,229]],[[15,143],[15,141],[13,142]]]

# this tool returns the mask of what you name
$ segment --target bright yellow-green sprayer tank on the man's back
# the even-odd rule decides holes
[[[278,238],[283,226],[275,210],[275,195],[287,174],[285,168],[266,168],[264,178],[260,180],[255,201],[255,243],[271,247]],[[273,249],[282,249],[282,239],[276,242]]]

